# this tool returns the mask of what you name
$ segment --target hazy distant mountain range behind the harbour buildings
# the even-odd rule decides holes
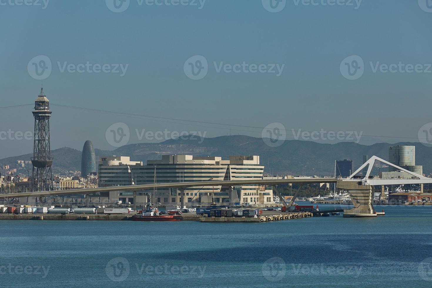
[[[114,151],[95,149],[96,159],[101,156],[130,156],[133,161],[160,159],[165,154],[188,154],[195,156],[260,155],[265,172],[273,174],[302,174],[303,167],[307,175],[331,176],[334,173],[334,161],[351,159],[354,167],[362,165],[363,155],[376,155],[388,160],[388,147],[394,145],[416,146],[416,165],[423,165],[423,173],[432,172],[432,148],[421,143],[400,142],[395,144],[377,143],[371,146],[354,142],[321,144],[309,141],[287,140],[279,147],[267,146],[261,138],[250,136],[220,136],[200,139],[195,136],[186,139],[172,139],[161,143],[140,143],[122,146]],[[79,171],[81,169],[81,151],[64,147],[51,152],[54,157],[53,171]],[[0,160],[0,165],[15,165],[17,160],[29,160],[31,154],[9,157]],[[30,167],[31,168],[31,167]],[[61,173],[61,174],[63,174]]]

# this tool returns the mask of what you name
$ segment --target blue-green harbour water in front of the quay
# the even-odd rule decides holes
[[[265,224],[1,221],[1,287],[431,287],[432,207],[381,209]]]

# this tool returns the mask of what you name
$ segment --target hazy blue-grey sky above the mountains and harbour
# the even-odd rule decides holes
[[[322,129],[418,142],[432,122],[426,0],[26,1],[0,0],[0,107],[31,104],[44,79],[51,104],[249,126],[52,105],[52,149],[82,149],[87,139],[114,149],[105,134],[112,124],[108,134],[124,131],[115,123],[137,143],[159,141],[143,129],[260,137],[270,123],[287,139],[291,129]],[[33,131],[31,111],[0,109],[0,132]],[[2,135],[0,158],[32,151],[31,139]]]

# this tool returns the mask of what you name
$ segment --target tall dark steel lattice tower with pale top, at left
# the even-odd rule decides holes
[[[33,145],[32,165],[32,182],[31,190],[33,191],[51,191],[53,189],[53,176],[51,173],[50,146],[50,101],[44,95],[44,88],[41,87],[41,94],[35,101],[35,141]]]

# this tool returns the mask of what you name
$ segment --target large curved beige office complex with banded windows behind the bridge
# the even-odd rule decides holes
[[[262,179],[264,166],[259,156],[195,157],[192,155],[162,155],[161,160],[149,160],[147,165],[140,161],[130,161],[129,157],[105,157],[99,161],[99,186],[123,186],[157,183],[201,182],[209,180]],[[144,191],[143,196],[151,196],[152,190]],[[131,202],[132,192],[110,192],[110,201]],[[156,192],[158,203],[179,205],[180,190],[159,189]],[[263,185],[238,187],[197,186],[184,190],[186,205],[216,204],[272,204],[273,191]],[[149,199],[147,199],[148,201]],[[154,202],[152,200],[152,202]]]

